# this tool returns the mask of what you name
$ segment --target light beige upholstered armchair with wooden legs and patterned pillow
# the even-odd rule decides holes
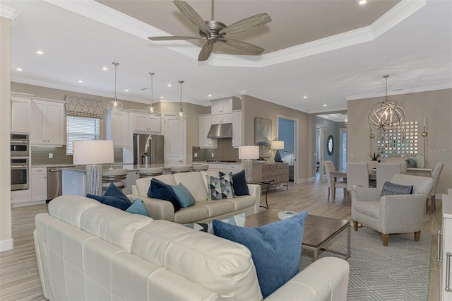
[[[383,246],[388,245],[393,233],[414,232],[415,241],[420,240],[425,203],[432,189],[431,177],[394,175],[393,184],[413,185],[412,194],[381,196],[382,188],[352,189],[353,228],[358,223],[381,232]]]

